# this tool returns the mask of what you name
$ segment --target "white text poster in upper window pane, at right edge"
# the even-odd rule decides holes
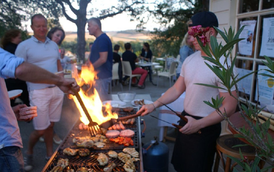
[[[274,57],[274,17],[263,19],[260,56]]]

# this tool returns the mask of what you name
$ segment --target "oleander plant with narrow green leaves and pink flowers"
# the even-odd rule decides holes
[[[214,27],[218,34],[222,36],[222,38],[225,41],[225,45],[222,45],[222,42],[219,44],[217,42],[216,37],[210,36],[210,41],[206,37],[206,32],[208,32],[209,27],[202,28],[201,26],[194,26],[192,27],[192,30],[188,32],[190,35],[194,36],[202,50],[206,53],[207,56],[202,56],[204,60],[211,62],[213,65],[210,65],[208,62],[205,62],[205,64],[217,75],[218,78],[220,78],[221,83],[226,87],[226,91],[230,93],[232,97],[234,97],[238,101],[238,107],[240,109],[241,116],[245,119],[247,124],[249,125],[250,129],[245,128],[244,126],[241,128],[235,127],[229,120],[228,115],[226,112],[222,112],[219,107],[222,105],[222,102],[224,101],[224,97],[212,97],[211,102],[210,101],[204,101],[207,105],[210,107],[213,107],[216,109],[218,114],[224,118],[228,122],[228,124],[236,130],[239,134],[235,134],[234,136],[237,138],[243,138],[245,139],[251,146],[255,148],[256,151],[256,157],[253,161],[248,161],[247,157],[244,157],[240,150],[241,160],[238,160],[234,157],[230,157],[233,159],[236,163],[238,163],[243,171],[267,171],[269,168],[273,168],[274,166],[274,144],[273,144],[273,138],[268,133],[268,129],[270,126],[270,120],[266,120],[266,122],[260,123],[258,114],[262,111],[263,108],[259,108],[258,103],[256,105],[252,105],[247,98],[245,100],[240,99],[239,97],[239,90],[237,83],[247,77],[248,75],[253,74],[253,71],[247,75],[244,75],[243,77],[238,77],[237,74],[233,72],[234,64],[236,62],[236,57],[233,57],[232,50],[235,44],[237,44],[239,41],[243,40],[239,38],[240,33],[242,32],[244,26],[242,26],[238,32],[235,33],[235,29],[233,30],[232,27],[228,29],[228,32],[224,29],[224,32],[222,32],[219,28]],[[224,63],[220,62],[220,58],[224,56],[225,60]],[[263,69],[269,71],[271,74],[274,74],[274,63],[273,61],[265,56],[266,61],[262,61],[268,69]],[[262,73],[261,75],[265,75],[271,78],[274,78],[274,75],[268,75]],[[203,85],[206,87],[213,87],[218,89],[224,89],[215,85],[208,85],[203,83],[196,83],[198,85]],[[232,95],[232,88],[236,88],[237,96],[235,97]],[[259,93],[257,100],[259,100]],[[225,110],[224,110],[225,111]],[[246,146],[246,145],[237,145],[237,146]],[[266,163],[269,163],[270,166],[264,169],[259,169],[258,163],[259,161],[265,161]],[[234,167],[233,171],[238,171]]]

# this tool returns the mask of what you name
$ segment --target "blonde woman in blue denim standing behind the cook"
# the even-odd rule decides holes
[[[189,35],[188,32],[186,32],[186,34],[184,35],[184,39],[182,40],[182,43],[180,45],[180,51],[179,51],[180,62],[176,69],[177,78],[180,76],[181,68],[184,60],[188,56],[194,53],[194,46],[192,42],[190,41],[190,38],[191,38],[191,35]]]

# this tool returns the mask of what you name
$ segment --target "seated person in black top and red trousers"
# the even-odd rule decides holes
[[[145,78],[147,77],[147,70],[141,69],[140,67],[135,66],[135,62],[138,62],[138,58],[136,54],[131,52],[131,44],[125,43],[125,52],[122,54],[123,61],[128,61],[131,65],[132,74],[141,74],[141,78],[139,79],[137,87],[144,89],[145,85]],[[125,81],[128,78],[128,76],[125,76],[123,78],[123,81]],[[134,77],[132,79],[133,85],[136,84],[136,78]]]

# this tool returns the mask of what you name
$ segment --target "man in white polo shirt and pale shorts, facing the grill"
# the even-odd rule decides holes
[[[52,73],[62,71],[58,67],[59,48],[57,44],[46,37],[47,20],[37,14],[31,18],[33,36],[21,42],[15,55],[22,57],[26,62],[37,65]],[[37,106],[37,117],[33,119],[34,131],[29,137],[27,161],[25,170],[32,168],[33,147],[40,136],[44,135],[46,144],[46,159],[53,154],[53,126],[60,120],[64,93],[52,84],[37,84],[27,82],[31,106]]]

